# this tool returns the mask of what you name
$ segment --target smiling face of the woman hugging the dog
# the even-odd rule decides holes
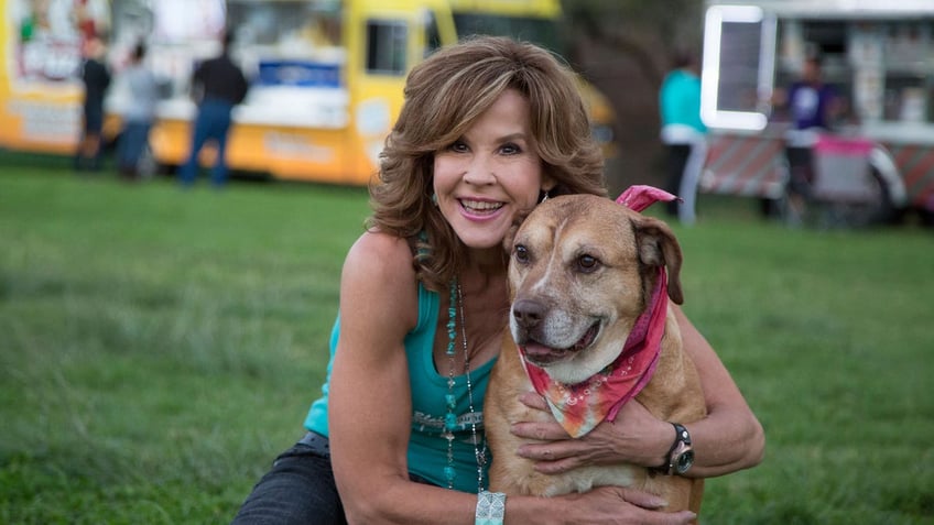
[[[530,129],[529,102],[504,91],[467,132],[435,153],[437,206],[469,248],[499,248],[513,217],[551,188]]]

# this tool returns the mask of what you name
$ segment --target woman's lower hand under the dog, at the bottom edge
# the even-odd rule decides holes
[[[557,496],[562,508],[574,515],[563,515],[565,523],[575,524],[683,524],[697,516],[689,511],[658,512],[665,505],[661,497],[622,486],[598,486],[589,492]],[[543,521],[543,523],[545,523]]]

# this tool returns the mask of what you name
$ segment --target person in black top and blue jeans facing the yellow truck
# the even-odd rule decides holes
[[[192,96],[197,103],[192,151],[182,166],[180,178],[183,186],[195,182],[198,171],[198,153],[207,141],[214,141],[217,157],[211,169],[210,181],[216,187],[227,182],[227,136],[230,132],[234,107],[247,97],[249,84],[243,72],[230,59],[232,34],[224,37],[220,55],[205,61],[195,69],[192,78]]]

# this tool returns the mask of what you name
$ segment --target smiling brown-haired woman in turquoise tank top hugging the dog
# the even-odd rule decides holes
[[[325,395],[305,420],[309,434],[276,460],[237,519],[689,521],[692,513],[654,512],[658,497],[621,488],[510,496],[506,522],[480,517],[490,503],[481,405],[509,310],[503,238],[543,198],[604,195],[601,173],[574,78],[547,52],[477,37],[416,66],[370,188],[369,228],[344,265]],[[751,467],[762,429],[713,349],[678,315],[710,412],[687,425],[697,453],[691,474]],[[552,440],[522,453],[546,471],[623,460],[658,467],[672,426],[634,403],[625,411],[578,441],[556,424],[517,425]]]

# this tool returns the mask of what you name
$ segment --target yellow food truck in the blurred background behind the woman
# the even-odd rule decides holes
[[[460,36],[503,34],[554,51],[563,47],[558,0],[98,1],[106,8],[98,9],[106,14],[98,25],[109,29],[116,72],[108,112],[119,116],[130,103],[119,69],[134,42],[149,44],[149,64],[163,79],[164,100],[150,134],[155,164],[184,163],[195,114],[191,75],[198,62],[219,51],[219,35],[229,28],[235,32],[231,55],[251,80],[247,99],[235,108],[229,165],[282,179],[366,184],[377,171],[383,140],[401,109],[406,74]],[[15,13],[7,18],[11,23],[0,33],[0,45],[12,46],[15,55],[22,47],[17,29],[24,20],[22,6],[39,2],[0,0],[0,6],[4,3]],[[14,9],[14,4],[22,6]],[[77,45],[78,36],[69,42]],[[74,75],[66,74],[79,59],[74,50],[61,65],[62,78],[43,79],[42,89],[32,95],[21,89],[15,74],[0,77],[0,89],[6,89],[0,91],[4,102],[0,147],[72,147],[80,119],[80,87]],[[610,106],[583,80],[580,87],[590,105],[594,131],[610,152],[615,124]],[[32,114],[20,120],[24,105]],[[47,133],[51,128],[57,133],[54,141]],[[207,149],[202,161],[209,162],[211,155]]]

